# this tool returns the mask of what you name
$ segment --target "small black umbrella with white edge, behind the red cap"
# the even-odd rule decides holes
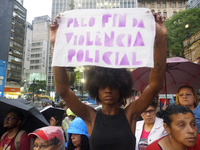
[[[51,116],[58,116],[61,121],[63,119],[65,111],[66,111],[65,109],[53,106],[46,106],[40,110],[40,112],[44,115],[44,117],[47,120],[49,120]]]

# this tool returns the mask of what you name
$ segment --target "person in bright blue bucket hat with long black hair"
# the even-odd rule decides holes
[[[89,135],[85,122],[76,117],[67,130],[69,141],[66,143],[67,150],[90,150]]]

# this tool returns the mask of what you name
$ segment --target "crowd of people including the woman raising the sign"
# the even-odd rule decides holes
[[[152,12],[156,23],[154,68],[149,84],[126,105],[132,95],[132,75],[127,69],[91,66],[86,72],[86,88],[102,109],[80,102],[69,87],[64,67],[53,67],[57,93],[65,101],[67,116],[51,116],[50,126],[31,133],[21,130],[23,114],[11,109],[3,123],[7,130],[0,150],[199,150],[199,97],[192,86],[177,89],[176,104],[158,113],[157,94],[162,88],[166,68],[167,30],[164,18]],[[50,26],[52,46],[59,24]],[[126,106],[126,107],[125,107]],[[138,120],[141,117],[142,120]]]

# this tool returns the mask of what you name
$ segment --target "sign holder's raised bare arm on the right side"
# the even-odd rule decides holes
[[[166,70],[167,29],[165,18],[152,11],[156,21],[156,37],[154,43],[154,68],[151,69],[149,84],[138,100],[127,107],[128,116],[134,119],[140,115],[153,101],[163,85]]]

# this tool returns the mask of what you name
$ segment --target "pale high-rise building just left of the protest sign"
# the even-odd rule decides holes
[[[49,23],[50,17],[47,15],[35,17],[33,20],[32,43],[31,46],[28,45],[25,56],[30,62],[25,64],[27,82],[33,82],[34,79],[46,81],[47,56],[50,49]]]

